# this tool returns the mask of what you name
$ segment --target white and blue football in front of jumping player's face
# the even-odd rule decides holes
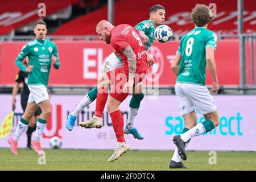
[[[156,27],[155,38],[160,43],[168,42],[172,39],[172,29],[165,24]]]

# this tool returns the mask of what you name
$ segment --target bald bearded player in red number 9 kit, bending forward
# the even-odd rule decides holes
[[[101,73],[98,77],[95,114],[88,121],[80,122],[79,125],[86,128],[102,126],[102,113],[108,100],[109,86],[114,84],[107,103],[107,109],[112,119],[115,137],[117,138],[117,148],[109,158],[109,162],[113,162],[129,150],[129,146],[125,143],[123,116],[119,105],[129,93],[135,92],[134,85],[141,82],[146,75],[148,66],[144,44],[149,39],[129,24],[121,24],[114,27],[106,20],[101,20],[97,24],[96,32],[101,40],[111,44],[115,52],[121,56],[123,67],[107,73]]]

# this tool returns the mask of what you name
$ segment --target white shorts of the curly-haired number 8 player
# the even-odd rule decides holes
[[[179,100],[181,115],[198,110],[208,114],[217,110],[217,106],[206,86],[176,82],[176,96]]]

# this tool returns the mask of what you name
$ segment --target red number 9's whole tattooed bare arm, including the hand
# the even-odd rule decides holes
[[[123,86],[123,90],[124,92],[132,93],[134,77],[135,77],[136,68],[137,68],[136,55],[133,52],[133,49],[131,49],[131,46],[127,46],[123,49],[123,55],[127,57],[128,67],[129,67],[129,80],[125,84],[125,86]]]

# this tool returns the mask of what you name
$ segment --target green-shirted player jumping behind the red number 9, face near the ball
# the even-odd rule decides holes
[[[143,32],[150,40],[145,45],[146,50],[148,50],[151,47],[152,43],[154,42],[155,28],[164,23],[166,11],[163,6],[155,5],[150,8],[149,14],[150,14],[149,20],[144,20],[143,22],[138,23],[135,26],[135,28]],[[152,59],[152,57],[148,56],[148,66],[152,64],[154,64],[154,60]],[[104,72],[106,73],[110,70],[113,70],[119,67],[122,67],[122,59],[118,57],[118,55],[115,55],[115,53],[113,52],[106,59]],[[138,85],[137,88],[135,88],[135,90],[139,90],[140,92],[134,93],[133,97],[131,98],[130,105],[129,105],[130,112],[127,120],[127,126],[125,127],[125,133],[132,134],[134,138],[143,139],[143,136],[139,134],[138,130],[134,127],[134,118],[138,113],[139,106],[144,97],[144,94],[141,92],[142,85],[141,84]],[[76,106],[76,109],[73,110],[71,114],[69,114],[66,122],[66,126],[68,130],[71,131],[73,129],[73,126],[75,124],[76,118],[78,117],[79,113],[82,111],[82,109],[84,109],[84,107],[88,106],[90,103],[96,100],[96,97],[97,97],[97,87],[91,90],[88,94],[86,94],[86,96]],[[90,125],[88,127],[91,128],[95,126]]]

